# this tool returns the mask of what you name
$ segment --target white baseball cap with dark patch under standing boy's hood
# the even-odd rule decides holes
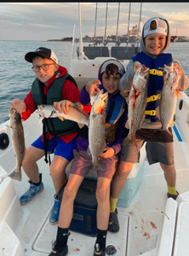
[[[156,21],[156,25],[157,25],[156,29],[151,29],[151,23],[153,20]],[[158,17],[147,20],[144,25],[144,38],[146,38],[146,36],[153,33],[160,33],[165,36],[168,36],[168,25],[166,21]]]

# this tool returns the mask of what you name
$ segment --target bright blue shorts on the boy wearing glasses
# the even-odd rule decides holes
[[[77,138],[74,137],[72,142],[64,143],[59,137],[52,138],[49,140],[48,152],[54,155],[60,155],[69,162],[73,159],[73,149],[76,148]],[[44,150],[44,143],[42,142],[42,136],[38,137],[37,140],[31,144],[31,146]]]

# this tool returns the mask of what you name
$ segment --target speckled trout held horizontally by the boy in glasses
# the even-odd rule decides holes
[[[82,128],[84,125],[89,126],[89,114],[84,112],[82,107],[77,104],[76,107],[69,106],[69,113],[60,113],[53,105],[38,105],[37,111],[39,114],[39,121],[37,125],[44,119],[49,118],[59,118],[62,121],[64,119],[69,119],[74,122],[77,122],[78,126]]]

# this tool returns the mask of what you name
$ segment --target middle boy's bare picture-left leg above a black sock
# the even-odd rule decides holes
[[[77,195],[77,190],[79,189],[80,184],[83,182],[82,176],[70,174],[68,183],[63,193],[63,198],[60,207],[60,216],[59,216],[59,227],[62,229],[69,228],[72,215],[73,215],[73,202]]]

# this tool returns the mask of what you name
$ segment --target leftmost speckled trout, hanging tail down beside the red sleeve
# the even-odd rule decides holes
[[[26,153],[24,129],[21,114],[18,110],[11,108],[9,113],[12,143],[16,156],[16,168],[9,177],[21,181],[21,165]]]

